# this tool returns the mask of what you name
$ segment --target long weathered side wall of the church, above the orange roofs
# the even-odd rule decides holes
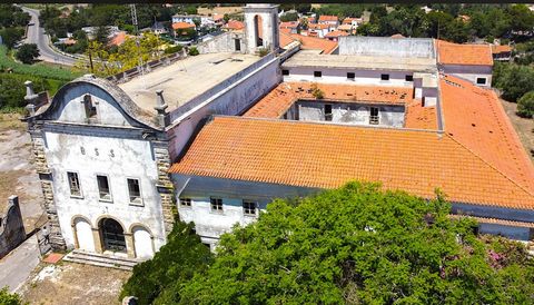
[[[238,115],[278,85],[281,81],[278,62],[273,55],[266,56],[250,69],[234,75],[174,111],[170,116],[175,124],[168,129],[171,160],[176,160],[201,120],[210,115]]]

